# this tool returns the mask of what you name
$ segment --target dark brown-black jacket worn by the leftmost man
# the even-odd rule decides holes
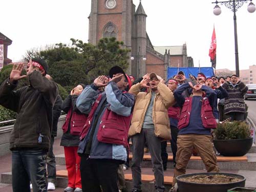
[[[10,150],[39,148],[48,151],[58,87],[39,71],[29,74],[28,79],[30,86],[16,91],[17,81],[11,83],[6,79],[0,87],[0,104],[17,113],[10,136]]]

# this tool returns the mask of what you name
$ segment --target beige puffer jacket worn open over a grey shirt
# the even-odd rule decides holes
[[[140,83],[137,83],[129,91],[136,96],[129,136],[141,132],[147,106],[150,104],[151,91],[149,93],[140,92],[141,88]],[[163,83],[159,83],[157,89],[158,93],[154,99],[152,111],[155,135],[170,140],[170,122],[167,109],[175,103],[174,95]]]

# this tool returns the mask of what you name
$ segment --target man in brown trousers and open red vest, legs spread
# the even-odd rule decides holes
[[[186,89],[193,89],[193,97],[184,98]],[[186,165],[193,153],[193,148],[202,158],[207,172],[219,172],[217,158],[211,142],[210,130],[217,127],[217,122],[212,113],[215,92],[207,86],[191,82],[184,83],[174,92],[176,102],[182,106],[178,123],[178,140],[176,167],[173,185],[176,177],[186,173]]]

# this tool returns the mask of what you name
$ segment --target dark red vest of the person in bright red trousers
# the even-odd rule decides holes
[[[71,135],[80,135],[83,125],[86,123],[87,115],[78,114],[75,111],[72,114],[72,106],[66,116],[65,123],[62,126],[63,133],[66,133],[69,129],[70,122],[70,134]]]

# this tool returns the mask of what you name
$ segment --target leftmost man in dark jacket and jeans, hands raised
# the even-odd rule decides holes
[[[27,75],[24,65],[13,66],[10,77],[0,86],[0,104],[17,112],[10,136],[13,192],[46,192],[46,154],[50,148],[53,104],[58,94],[54,81],[45,77],[47,63],[31,59]],[[29,86],[14,90],[18,80],[28,77]]]

